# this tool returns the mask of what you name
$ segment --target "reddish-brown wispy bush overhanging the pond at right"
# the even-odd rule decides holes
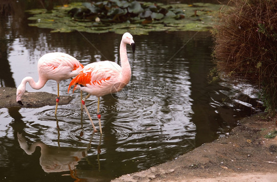
[[[277,113],[277,0],[231,0],[212,31],[217,68],[262,88],[269,113]]]

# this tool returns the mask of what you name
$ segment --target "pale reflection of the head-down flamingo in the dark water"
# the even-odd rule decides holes
[[[70,171],[70,176],[73,179],[79,180],[75,172],[75,166],[82,158],[85,158],[86,156],[88,156],[87,151],[91,148],[91,142],[94,134],[95,132],[93,132],[90,138],[90,141],[87,145],[87,148],[85,149],[48,146],[43,142],[34,142],[33,144],[31,144],[31,146],[29,146],[25,137],[22,135],[22,133],[17,133],[17,139],[20,147],[28,155],[32,155],[35,152],[36,147],[41,148],[39,164],[41,165],[44,172],[53,173],[53,172]],[[100,135],[99,145],[97,147],[97,158],[98,158],[99,170],[100,170],[99,155],[101,153],[101,139],[102,139],[102,135]]]

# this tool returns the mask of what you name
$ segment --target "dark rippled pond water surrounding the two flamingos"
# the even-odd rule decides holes
[[[1,17],[1,86],[17,87],[37,75],[47,52],[66,52],[82,64],[119,60],[122,35],[50,33],[29,27],[24,11]],[[132,33],[132,30],[126,30]],[[127,47],[130,83],[101,98],[103,135],[93,133],[80,94],[68,105],[0,109],[0,180],[110,181],[185,154],[228,134],[238,120],[260,111],[251,85],[209,83],[213,42],[209,32],[151,32],[134,35]],[[70,80],[60,84],[67,95]],[[29,84],[29,92],[36,92]],[[49,80],[39,91],[57,93]],[[96,128],[97,98],[86,105]],[[56,128],[59,123],[60,130]]]

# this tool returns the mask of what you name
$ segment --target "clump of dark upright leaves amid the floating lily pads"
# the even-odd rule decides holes
[[[76,20],[94,21],[99,18],[102,22],[122,23],[136,22],[142,24],[152,23],[152,20],[185,18],[182,9],[162,7],[162,4],[140,3],[136,0],[106,0],[100,2],[83,2],[84,7],[72,8],[69,14]],[[147,20],[147,21],[145,21]]]

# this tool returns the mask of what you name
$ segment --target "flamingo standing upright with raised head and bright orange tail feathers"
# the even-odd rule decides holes
[[[129,83],[131,79],[131,67],[128,61],[126,49],[127,44],[130,44],[133,52],[135,52],[136,45],[133,40],[133,36],[128,32],[123,34],[120,43],[119,53],[121,66],[112,61],[90,63],[86,65],[80,74],[73,78],[69,84],[68,93],[72,85],[74,85],[73,92],[75,89],[80,89],[81,91],[88,93],[88,95],[83,98],[82,104],[89,116],[94,132],[97,130],[92,122],[88,109],[85,105],[85,101],[90,95],[98,97],[97,116],[99,120],[100,133],[102,134],[101,115],[99,112],[100,97],[119,92]]]

